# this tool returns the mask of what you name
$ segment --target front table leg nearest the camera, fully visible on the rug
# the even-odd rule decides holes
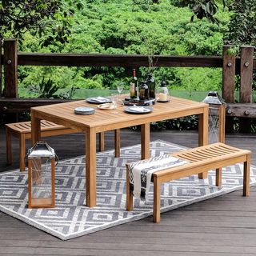
[[[86,206],[96,206],[96,132],[86,131]]]

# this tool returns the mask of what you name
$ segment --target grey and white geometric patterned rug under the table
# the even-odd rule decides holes
[[[150,143],[151,156],[184,147],[161,140]],[[0,174],[0,210],[44,230],[62,240],[146,218],[153,214],[153,186],[149,202],[135,199],[134,211],[126,211],[126,162],[139,160],[140,145],[122,148],[121,157],[114,150],[97,154],[97,206],[88,208],[85,199],[85,157],[60,161],[55,170],[55,208],[27,208],[27,172],[14,170]],[[162,184],[161,212],[242,189],[242,165],[222,169],[222,188],[214,186],[215,173],[206,180],[197,175]],[[250,184],[256,182],[256,168],[251,166]],[[242,192],[241,192],[242,196]]]

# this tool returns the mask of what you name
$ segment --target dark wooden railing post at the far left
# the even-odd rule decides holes
[[[6,39],[4,41],[4,74],[6,98],[18,98],[18,55],[17,40]]]

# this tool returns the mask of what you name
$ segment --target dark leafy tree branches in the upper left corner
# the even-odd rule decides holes
[[[23,35],[29,32],[39,38],[44,35],[42,46],[65,43],[74,15],[71,6],[81,8],[82,4],[79,0],[2,0],[0,39],[14,37],[22,43]]]

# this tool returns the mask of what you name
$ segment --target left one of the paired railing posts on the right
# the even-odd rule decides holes
[[[231,46],[223,46],[222,57],[222,98],[226,103],[234,103],[235,55],[229,54]],[[234,130],[234,118],[226,118],[226,132]]]

